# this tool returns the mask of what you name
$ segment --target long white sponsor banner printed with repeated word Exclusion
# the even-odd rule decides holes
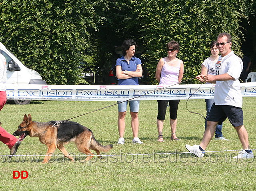
[[[256,97],[256,82],[240,83],[243,97]],[[75,86],[7,84],[7,99],[108,101],[208,99],[214,97],[215,84],[174,86]],[[200,87],[200,88],[199,88]],[[198,89],[199,88],[199,89]],[[136,98],[135,98],[136,97]]]

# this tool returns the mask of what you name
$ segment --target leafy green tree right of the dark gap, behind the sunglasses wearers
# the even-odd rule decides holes
[[[141,38],[150,50],[151,71],[166,56],[170,40],[180,43],[177,57],[184,62],[184,80],[200,73],[203,60],[210,56],[209,44],[220,32],[232,35],[233,50],[240,53],[239,22],[246,11],[245,0],[223,0],[221,6],[219,0],[134,0],[133,6]]]

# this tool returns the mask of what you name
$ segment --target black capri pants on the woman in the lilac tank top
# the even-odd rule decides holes
[[[170,109],[170,118],[171,119],[177,119],[177,111],[178,111],[178,105],[180,103],[180,100],[157,100],[158,102],[158,115],[157,119],[164,120],[165,114],[166,114],[166,108],[169,102],[169,109]]]

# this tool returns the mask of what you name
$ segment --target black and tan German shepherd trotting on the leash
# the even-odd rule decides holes
[[[64,144],[69,141],[74,141],[76,147],[82,153],[88,155],[84,161],[88,161],[93,157],[90,149],[96,151],[98,157],[102,159],[100,151],[108,152],[113,148],[113,145],[103,146],[94,138],[92,131],[83,125],[74,121],[63,121],[57,125],[59,121],[49,121],[46,123],[32,121],[31,115],[25,114],[22,123],[20,123],[18,130],[13,133],[14,136],[20,136],[23,140],[27,135],[30,137],[39,137],[39,141],[48,147],[48,151],[42,163],[48,163],[52,153],[56,148],[67,157],[75,161],[68,151],[65,149]]]

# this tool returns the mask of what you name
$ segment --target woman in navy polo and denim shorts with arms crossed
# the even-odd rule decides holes
[[[125,40],[122,44],[122,54],[121,58],[116,60],[116,76],[119,79],[118,85],[139,85],[138,77],[142,76],[142,64],[139,58],[134,57],[135,47],[137,46],[134,40]],[[120,138],[118,139],[118,144],[124,144],[124,129],[125,129],[125,115],[128,105],[128,101],[118,102],[118,131]],[[120,103],[122,102],[122,103]],[[138,138],[139,131],[139,111],[140,101],[129,101],[130,114],[132,117],[132,133],[134,143],[141,144],[142,141]]]

